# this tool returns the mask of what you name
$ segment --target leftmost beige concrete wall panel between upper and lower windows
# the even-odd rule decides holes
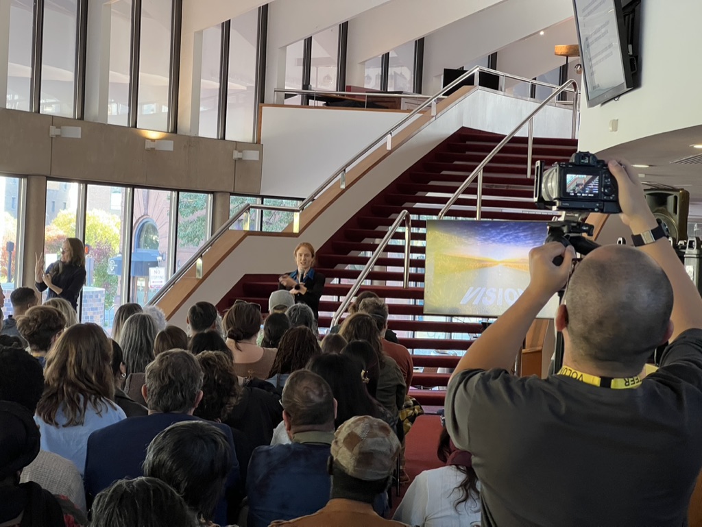
[[[51,116],[0,109],[0,172],[48,174]]]

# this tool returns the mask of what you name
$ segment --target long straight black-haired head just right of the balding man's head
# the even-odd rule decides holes
[[[336,399],[334,426],[356,415],[378,417],[378,407],[368,394],[361,363],[350,355],[328,353],[315,356],[307,369],[317,373],[331,387]]]

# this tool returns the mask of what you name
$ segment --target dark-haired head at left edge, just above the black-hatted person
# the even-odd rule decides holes
[[[11,401],[34,415],[44,393],[44,370],[37,359],[15,347],[0,347],[0,401]]]

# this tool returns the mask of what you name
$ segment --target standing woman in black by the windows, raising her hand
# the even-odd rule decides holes
[[[61,247],[61,259],[49,265],[46,271],[44,255],[37,255],[34,272],[39,293],[48,289],[47,298],[63,298],[76,309],[78,295],[86,283],[86,252],[83,242],[77,238],[65,239]]]

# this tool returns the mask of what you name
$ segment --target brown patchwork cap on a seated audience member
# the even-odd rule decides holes
[[[395,432],[386,422],[357,415],[336,430],[331,457],[349,476],[377,481],[392,474],[399,446]]]

